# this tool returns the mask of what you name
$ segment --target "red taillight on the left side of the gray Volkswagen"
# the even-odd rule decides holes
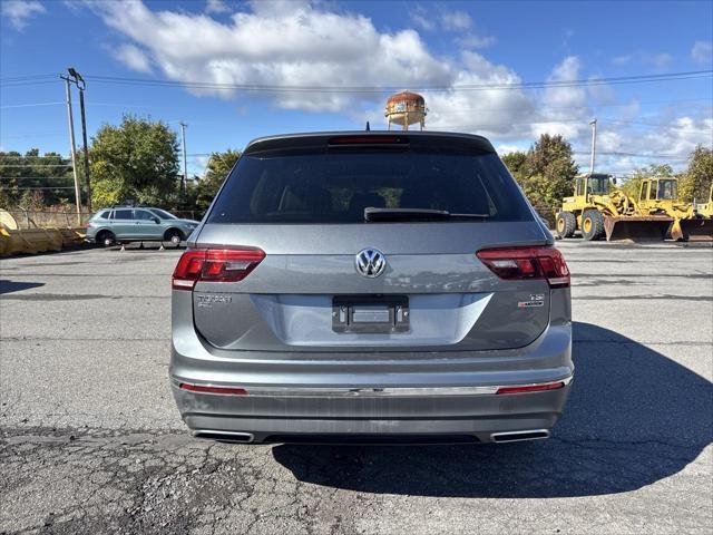
[[[260,249],[189,249],[178,260],[172,286],[193,290],[198,281],[242,281],[264,257]]]

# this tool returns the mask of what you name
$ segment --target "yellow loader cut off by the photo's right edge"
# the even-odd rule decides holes
[[[637,206],[642,215],[671,217],[671,237],[676,241],[713,241],[713,221],[697,212],[692,203],[678,201],[677,178],[644,178]]]

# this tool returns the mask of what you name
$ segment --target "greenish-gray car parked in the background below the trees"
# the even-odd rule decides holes
[[[115,206],[100,210],[89,220],[87,241],[105,246],[128,242],[170,242],[178,246],[199,224],[160,208]]]

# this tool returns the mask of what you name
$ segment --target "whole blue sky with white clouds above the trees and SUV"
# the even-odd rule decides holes
[[[262,135],[361,129],[367,119],[381,128],[388,93],[265,93],[184,81],[423,89],[427,128],[482,134],[500,152],[525,149],[543,132],[564,134],[583,167],[587,123],[597,117],[598,171],[625,173],[651,162],[681,167],[696,144],[713,145],[710,76],[502,85],[710,70],[712,41],[711,1],[2,0],[0,146],[68,154],[57,76],[74,66],[87,77],[90,135],[126,113],[176,130],[183,120],[192,174],[202,173],[205,154]],[[53,77],[14,79],[33,75]],[[468,89],[492,85],[499,89]]]

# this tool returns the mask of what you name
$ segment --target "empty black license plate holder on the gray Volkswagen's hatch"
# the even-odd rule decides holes
[[[410,319],[406,295],[335,295],[332,299],[334,332],[408,332]]]

